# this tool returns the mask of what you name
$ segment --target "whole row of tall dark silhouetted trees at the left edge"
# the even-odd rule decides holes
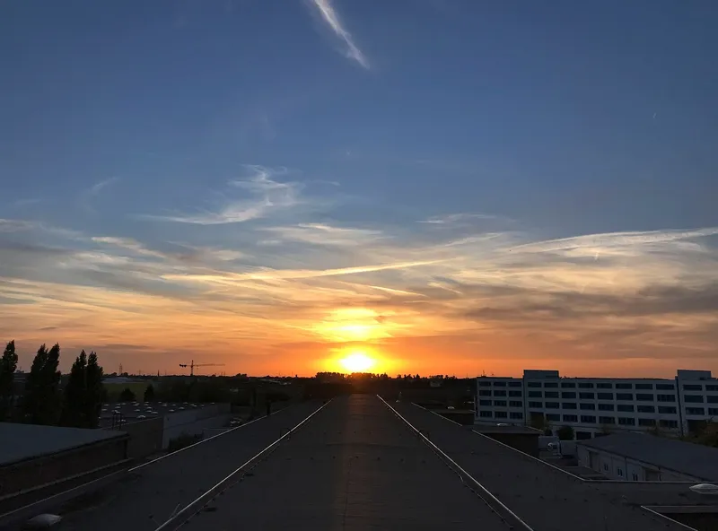
[[[0,422],[97,427],[105,390],[96,353],[82,351],[62,387],[59,344],[40,345],[24,382],[15,381],[17,361],[11,341],[0,360]]]

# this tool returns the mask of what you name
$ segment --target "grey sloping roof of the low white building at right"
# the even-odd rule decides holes
[[[718,480],[718,448],[628,432],[582,440],[579,444],[669,468],[705,481]]]

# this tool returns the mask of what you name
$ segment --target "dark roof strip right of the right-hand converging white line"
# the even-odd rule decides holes
[[[535,531],[686,531],[410,403],[391,404]]]

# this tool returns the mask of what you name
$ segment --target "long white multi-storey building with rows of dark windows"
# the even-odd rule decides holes
[[[477,378],[475,422],[571,426],[579,440],[619,430],[682,435],[712,417],[718,379],[709,370],[679,370],[675,379],[562,378],[557,370]]]

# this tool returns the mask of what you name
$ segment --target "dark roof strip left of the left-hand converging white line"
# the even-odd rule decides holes
[[[64,518],[62,529],[153,531],[173,511],[194,501],[320,405],[308,402],[287,407],[127,473],[100,491],[58,508]]]

